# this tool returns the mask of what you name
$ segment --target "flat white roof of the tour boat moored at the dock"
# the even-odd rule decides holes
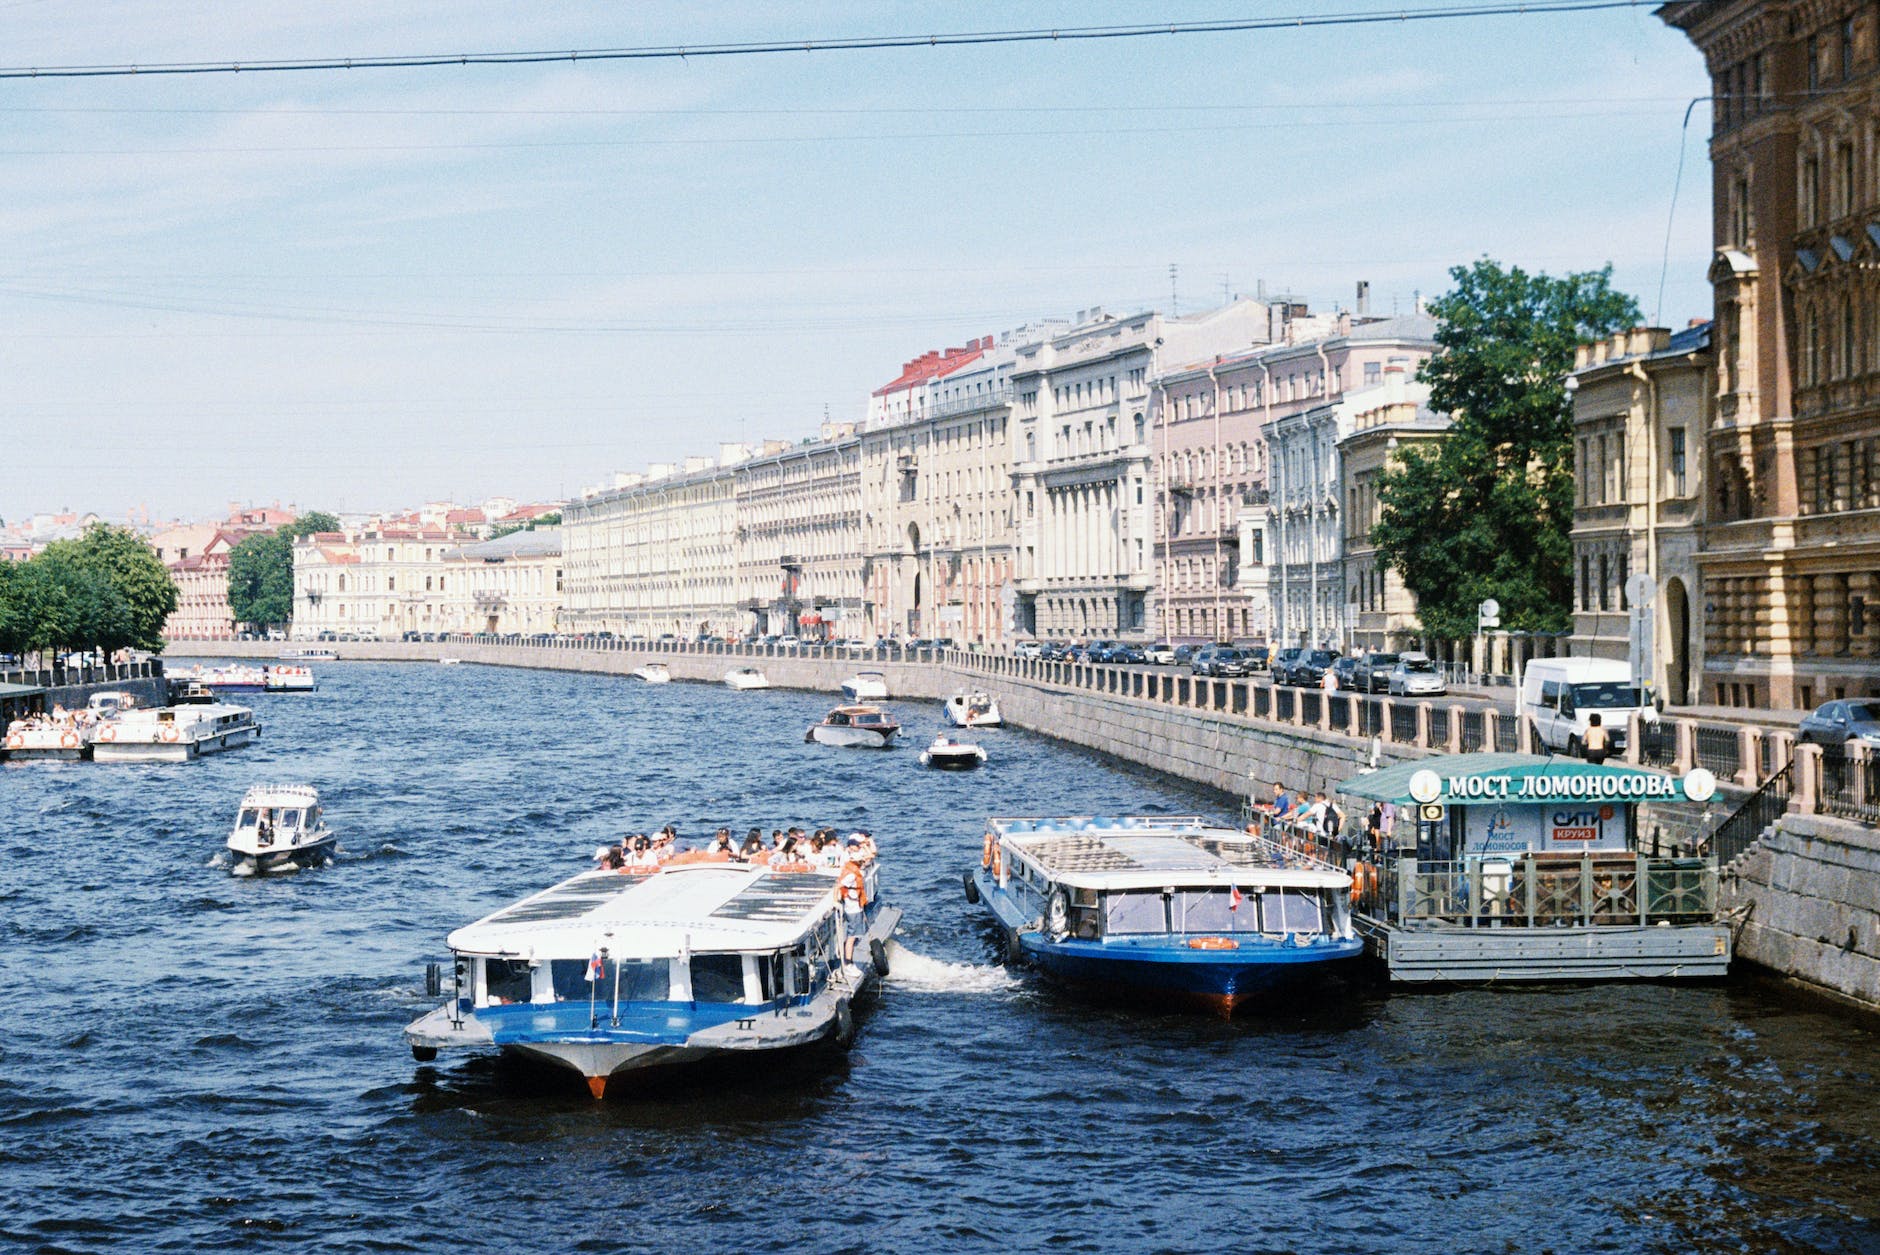
[[[1342,870],[1199,815],[993,819],[1006,847],[1075,889],[1344,889]]]

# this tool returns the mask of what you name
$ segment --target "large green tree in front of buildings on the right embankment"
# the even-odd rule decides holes
[[[1577,344],[1637,323],[1637,302],[1611,287],[1609,265],[1553,278],[1483,257],[1449,278],[1455,291],[1431,304],[1442,351],[1418,378],[1453,425],[1380,475],[1371,539],[1434,637],[1472,635],[1487,597],[1504,628],[1559,631],[1574,597],[1566,372]]]

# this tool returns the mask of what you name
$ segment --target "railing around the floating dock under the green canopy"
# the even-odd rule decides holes
[[[1461,860],[1386,859],[1357,909],[1395,924],[1457,928],[1643,926],[1716,915],[1715,859],[1632,851],[1525,851]]]

